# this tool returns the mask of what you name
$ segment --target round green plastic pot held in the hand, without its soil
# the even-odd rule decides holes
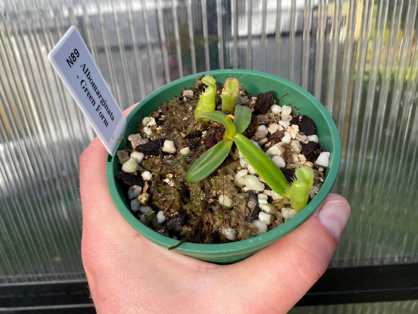
[[[196,76],[203,74],[212,75],[218,82],[224,82],[228,77],[235,77],[240,81],[248,93],[254,95],[274,90],[275,98],[280,98],[287,93],[282,104],[291,104],[293,107],[298,108],[301,114],[311,117],[316,124],[316,135],[319,137],[319,144],[323,145],[326,151],[331,152],[329,167],[325,170],[326,179],[324,180],[324,185],[322,185],[322,188],[314,199],[289,221],[265,234],[251,239],[224,244],[196,244],[186,242],[174,249],[176,252],[200,260],[222,264],[234,263],[243,260],[263,247],[284,237],[293,229],[300,226],[303,221],[314,213],[315,209],[321,205],[334,184],[341,160],[341,144],[338,131],[331,116],[325,110],[324,106],[322,106],[322,104],[306,90],[274,75],[250,70],[230,69],[207,71],[196,75],[189,75],[173,81],[150,94],[127,116],[127,126],[124,133],[125,139],[120,141],[117,150],[128,146],[128,143],[126,142],[127,136],[136,133],[140,118],[148,116],[159,105],[171,100],[173,96],[178,96],[180,94],[180,88],[193,86]],[[116,174],[120,171],[121,165],[117,162],[117,158],[112,158],[112,156],[108,154],[107,183],[110,195],[112,196],[116,208],[120,211],[120,214],[134,229],[155,244],[165,248],[177,245],[179,242],[178,240],[163,236],[158,232],[149,229],[138,220],[135,214],[133,214],[130,210],[130,202],[126,197],[125,189],[115,180]]]

